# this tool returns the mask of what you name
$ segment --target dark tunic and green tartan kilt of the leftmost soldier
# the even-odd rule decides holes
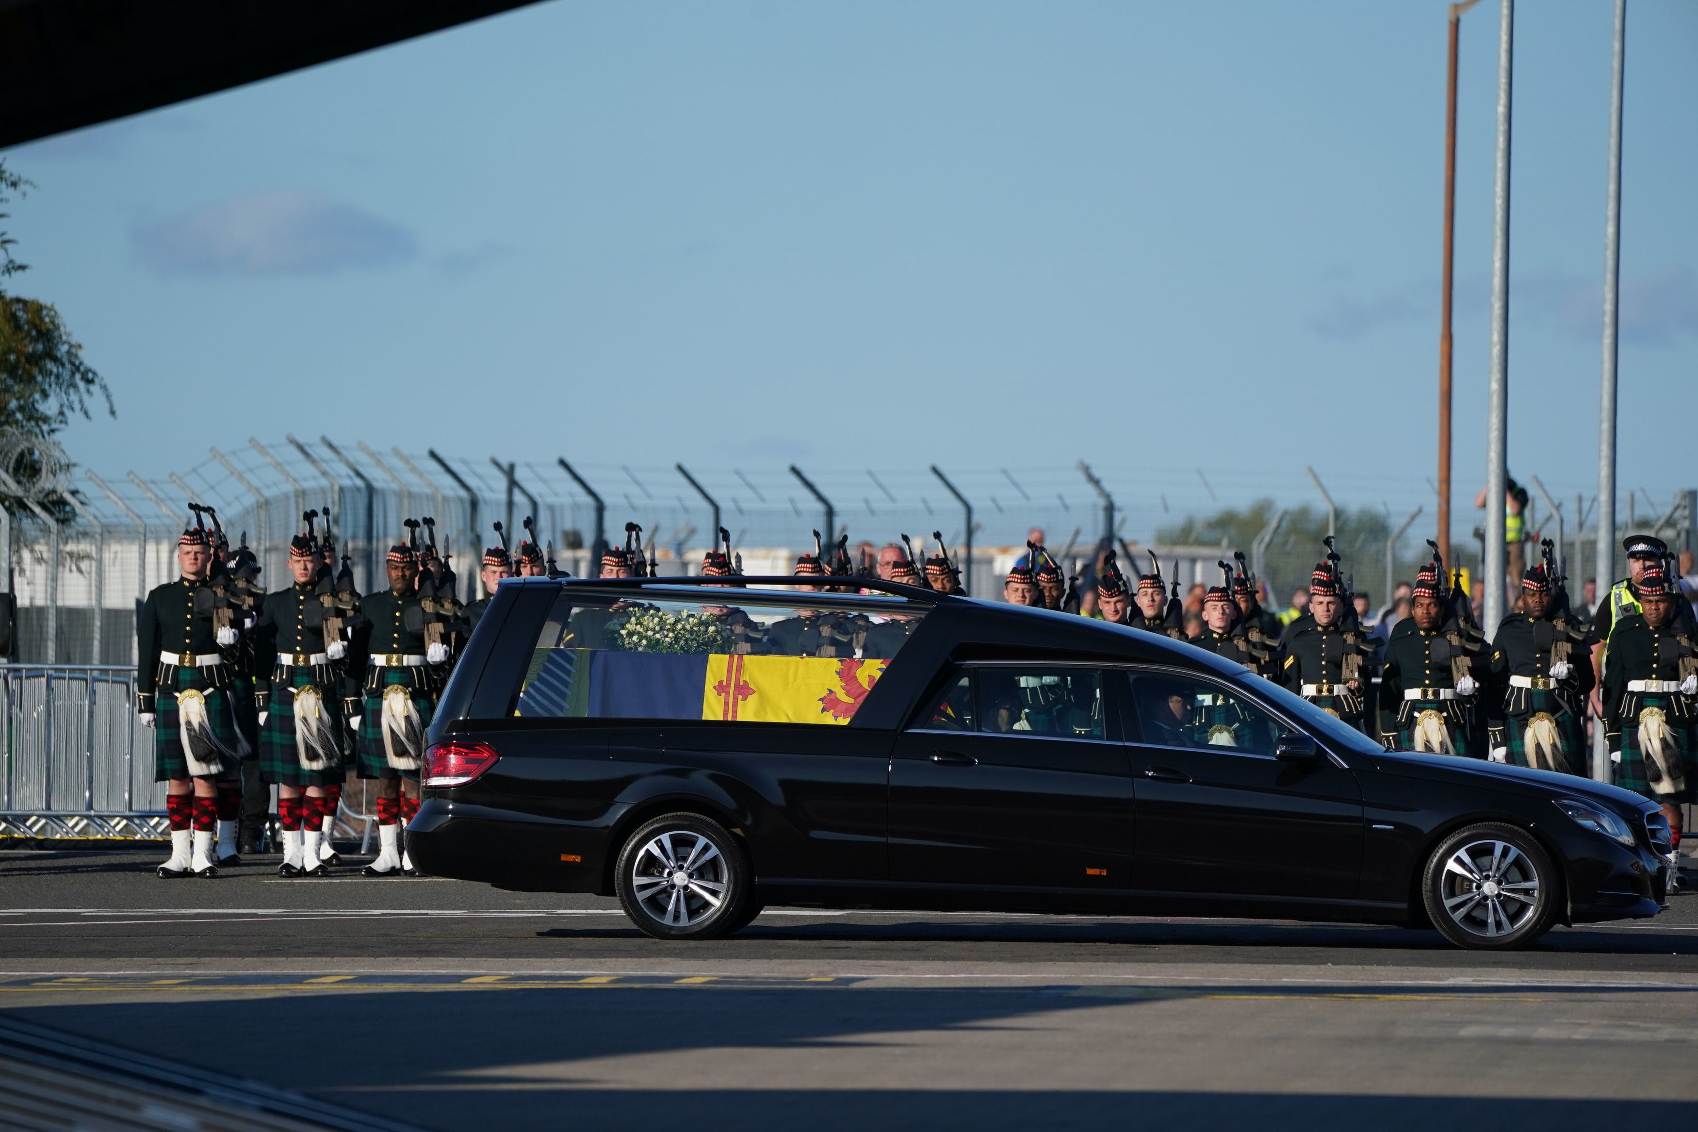
[[[222,658],[205,667],[175,665],[160,660],[160,653],[188,653],[192,657],[222,657],[212,635],[212,619],[195,613],[195,594],[205,582],[177,579],[158,586],[148,594],[136,619],[136,709],[156,711],[153,726],[153,757],[156,782],[187,779],[188,759],[183,752],[182,713],[178,703],[183,692],[195,691],[205,699],[207,721],[212,737],[224,747],[221,777],[236,771],[243,743],[236,730],[234,694],[236,672]]]

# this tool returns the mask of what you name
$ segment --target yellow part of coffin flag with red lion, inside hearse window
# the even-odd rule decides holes
[[[713,653],[701,689],[701,718],[847,723],[883,674],[883,660]]]

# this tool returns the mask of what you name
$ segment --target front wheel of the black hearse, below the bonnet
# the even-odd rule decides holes
[[[1440,935],[1472,950],[1516,950],[1555,920],[1562,881],[1550,855],[1513,825],[1470,825],[1440,842],[1421,884]]]

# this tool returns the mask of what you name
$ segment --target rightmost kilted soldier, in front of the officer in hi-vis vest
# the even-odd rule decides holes
[[[1615,625],[1605,658],[1605,735],[1615,784],[1662,806],[1678,854],[1681,803],[1698,798],[1698,642],[1676,621],[1661,567],[1635,589],[1640,611]]]

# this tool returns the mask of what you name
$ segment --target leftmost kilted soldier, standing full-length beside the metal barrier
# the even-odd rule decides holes
[[[202,611],[211,563],[207,531],[199,523],[183,530],[182,577],[148,594],[136,619],[136,709],[153,726],[155,781],[166,782],[171,823],[171,857],[158,869],[165,879],[217,876],[219,781],[236,772],[241,757],[236,681],[224,655],[238,635],[216,630]]]

